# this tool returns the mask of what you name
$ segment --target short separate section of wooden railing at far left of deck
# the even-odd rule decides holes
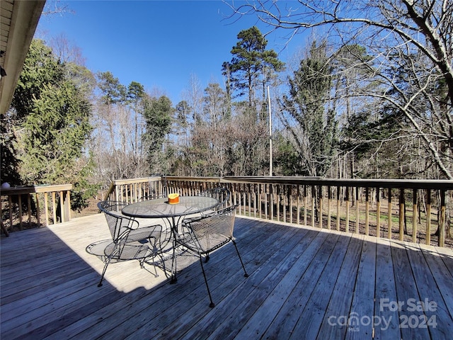
[[[2,188],[2,232],[8,235],[8,230],[22,230],[24,225],[40,227],[71,220],[71,189],[71,184]]]

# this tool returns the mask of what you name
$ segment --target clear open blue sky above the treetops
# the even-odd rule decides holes
[[[270,29],[256,16],[225,18],[231,9],[220,0],[60,1],[64,5],[74,13],[42,16],[36,36],[65,35],[81,49],[92,72],[110,71],[125,86],[138,81],[149,91],[159,89],[173,106],[192,74],[202,89],[211,81],[223,86],[222,63],[231,60],[241,30]],[[283,62],[304,44],[297,37],[284,49],[288,33],[267,38],[268,49],[280,52]]]

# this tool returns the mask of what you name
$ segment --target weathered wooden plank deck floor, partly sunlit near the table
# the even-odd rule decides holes
[[[103,215],[1,238],[1,339],[451,339],[453,251],[236,219],[234,246],[178,283],[87,254]],[[148,268],[148,267],[147,267]],[[421,302],[420,302],[421,301]],[[423,303],[422,303],[423,302]]]

